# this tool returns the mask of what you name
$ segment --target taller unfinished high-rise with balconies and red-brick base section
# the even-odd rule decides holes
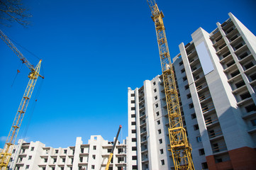
[[[173,60],[195,169],[256,167],[256,37],[232,13]],[[128,169],[173,169],[162,77],[128,88]]]

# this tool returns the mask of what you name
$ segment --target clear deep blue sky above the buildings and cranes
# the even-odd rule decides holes
[[[143,86],[161,74],[155,26],[146,0],[25,1],[33,18],[28,28],[0,26],[12,40],[43,59],[45,79],[38,101],[33,98],[17,140],[40,141],[49,147],[74,146],[76,137],[113,140],[118,125],[128,132],[127,88]],[[202,27],[211,33],[233,13],[256,34],[254,0],[157,0],[171,56]],[[38,59],[16,45],[33,64]],[[28,83],[28,68],[0,42],[0,148],[4,147]],[[16,70],[21,69],[13,86]],[[33,96],[42,83],[39,79]],[[33,108],[34,111],[33,111]],[[33,116],[31,117],[30,115]],[[30,123],[29,122],[30,119]],[[120,138],[121,139],[121,136]]]

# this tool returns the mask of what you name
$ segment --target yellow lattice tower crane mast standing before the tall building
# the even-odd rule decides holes
[[[174,70],[169,56],[169,48],[165,35],[165,26],[162,21],[164,14],[159,11],[155,0],[147,0],[152,13],[152,20],[155,23],[157,43],[160,53],[162,77],[165,84],[165,96],[167,112],[169,117],[169,150],[172,152],[172,159],[175,170],[194,170],[191,157],[191,145],[187,140],[186,130],[183,127],[182,115],[179,108],[179,97],[175,83]]]

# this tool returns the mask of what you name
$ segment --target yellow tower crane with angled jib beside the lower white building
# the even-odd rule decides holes
[[[26,87],[26,91],[23,94],[23,98],[21,99],[21,104],[18,107],[18,111],[13,120],[13,125],[11,126],[11,130],[4,145],[4,149],[0,153],[0,170],[6,170],[8,169],[8,164],[11,159],[11,154],[13,152],[13,146],[15,144],[16,137],[18,135],[18,130],[21,128],[21,123],[26,113],[28,102],[30,101],[30,97],[33,93],[35,83],[38,79],[38,76],[42,77],[43,79],[44,77],[39,74],[42,60],[40,60],[37,66],[34,67],[32,64],[30,64],[30,62],[28,62],[28,60],[21,54],[21,52],[13,45],[11,40],[9,40],[9,38],[6,35],[4,35],[4,33],[1,30],[0,38],[4,40],[6,45],[8,45],[11,48],[11,50],[13,50],[13,52],[20,58],[22,63],[26,64],[28,69],[30,69],[30,74],[28,74],[28,86]]]

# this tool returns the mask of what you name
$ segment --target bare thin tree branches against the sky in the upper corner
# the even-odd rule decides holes
[[[11,26],[11,23],[16,22],[21,26],[28,26],[30,23],[28,18],[31,14],[28,8],[22,4],[22,0],[0,0],[0,23],[4,26]]]

